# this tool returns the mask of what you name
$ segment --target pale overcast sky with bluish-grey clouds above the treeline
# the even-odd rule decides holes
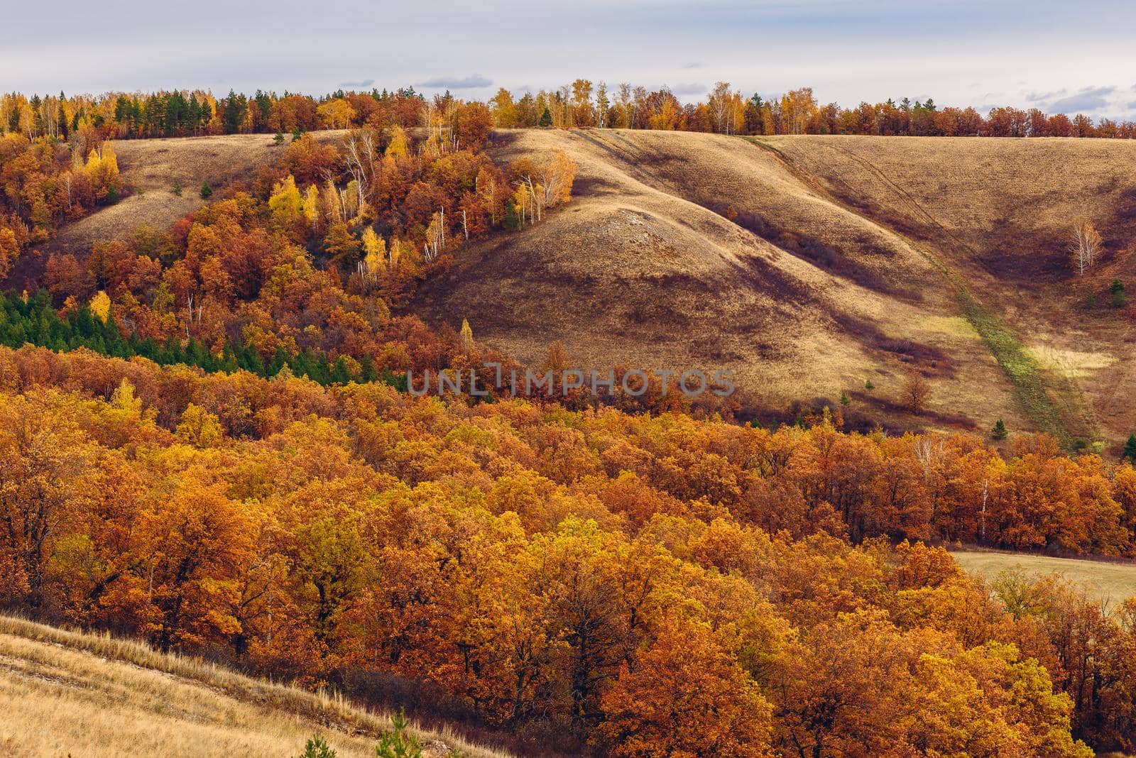
[[[812,86],[1136,118],[1136,2],[0,0],[0,90],[339,87],[473,99],[576,77],[683,100]]]

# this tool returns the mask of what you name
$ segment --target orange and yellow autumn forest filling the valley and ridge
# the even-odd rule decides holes
[[[515,755],[1136,753],[1136,597],[970,574],[946,549],[1131,562],[1136,438],[1117,456],[1034,429],[853,419],[846,395],[771,413],[653,379],[411,391],[408,372],[493,387],[525,368],[466,313],[426,318],[420,293],[603,188],[562,150],[507,153],[515,129],[1136,125],[725,83],[688,103],[584,79],[485,102],[6,94],[3,609]],[[195,205],[172,225],[56,245],[144,199],[128,141],[218,135],[262,135],[273,160],[225,186],[169,183]],[[595,368],[549,319],[532,368]]]

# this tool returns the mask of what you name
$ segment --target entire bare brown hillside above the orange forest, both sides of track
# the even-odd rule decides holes
[[[1130,238],[1136,146],[499,136],[506,158],[556,149],[579,165],[569,209],[462,255],[424,293],[428,313],[468,318],[527,360],[561,339],[584,367],[721,365],[758,406],[846,390],[853,410],[903,426],[1127,436],[1127,329],[1111,309],[1075,311],[1062,250],[1078,213],[1112,251]],[[932,384],[918,418],[900,402],[911,367]]]

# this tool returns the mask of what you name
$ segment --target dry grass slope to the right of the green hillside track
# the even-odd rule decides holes
[[[1074,437],[1113,449],[1136,426],[1136,332],[1105,305],[1131,272],[1136,144],[1125,140],[767,137],[796,170],[878,222],[905,230],[1029,346]],[[1071,219],[1105,255],[1085,278],[1068,264]],[[1126,251],[1127,253],[1122,252]],[[1127,280],[1129,289],[1136,281]],[[1087,310],[1093,293],[1101,305]],[[1008,420],[1009,421],[1009,420]]]

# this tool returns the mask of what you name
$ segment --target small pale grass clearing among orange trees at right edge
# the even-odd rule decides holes
[[[1058,574],[1079,584],[1109,608],[1136,597],[1136,564],[1052,558],[1044,555],[994,550],[955,550],[951,555],[963,571],[991,580],[1006,568],[1020,567],[1030,576]]]

